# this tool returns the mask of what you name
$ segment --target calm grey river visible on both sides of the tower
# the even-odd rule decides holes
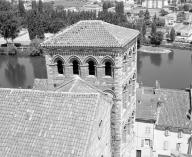
[[[192,82],[192,52],[175,49],[169,54],[138,53],[138,82],[162,88],[184,89]],[[43,57],[0,56],[0,87],[31,88],[34,78],[47,78]]]

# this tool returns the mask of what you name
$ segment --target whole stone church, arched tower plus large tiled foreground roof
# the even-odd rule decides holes
[[[131,157],[138,35],[85,20],[45,40],[48,78],[0,89],[0,154]]]

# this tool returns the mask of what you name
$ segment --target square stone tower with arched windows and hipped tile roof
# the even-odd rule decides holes
[[[79,75],[113,96],[111,147],[115,157],[129,157],[134,147],[138,34],[136,30],[88,20],[42,44],[49,89]],[[41,86],[40,82],[36,86]]]

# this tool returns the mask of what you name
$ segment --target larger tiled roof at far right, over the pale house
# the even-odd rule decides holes
[[[161,89],[159,92],[165,95],[165,102],[161,106],[157,126],[191,130],[192,122],[187,119],[190,108],[189,92],[172,89]]]

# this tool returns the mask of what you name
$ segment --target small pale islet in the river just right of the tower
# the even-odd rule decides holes
[[[140,52],[144,53],[153,53],[153,54],[162,54],[162,53],[170,53],[170,49],[162,48],[162,47],[152,47],[152,46],[141,46],[140,49],[138,49]]]

